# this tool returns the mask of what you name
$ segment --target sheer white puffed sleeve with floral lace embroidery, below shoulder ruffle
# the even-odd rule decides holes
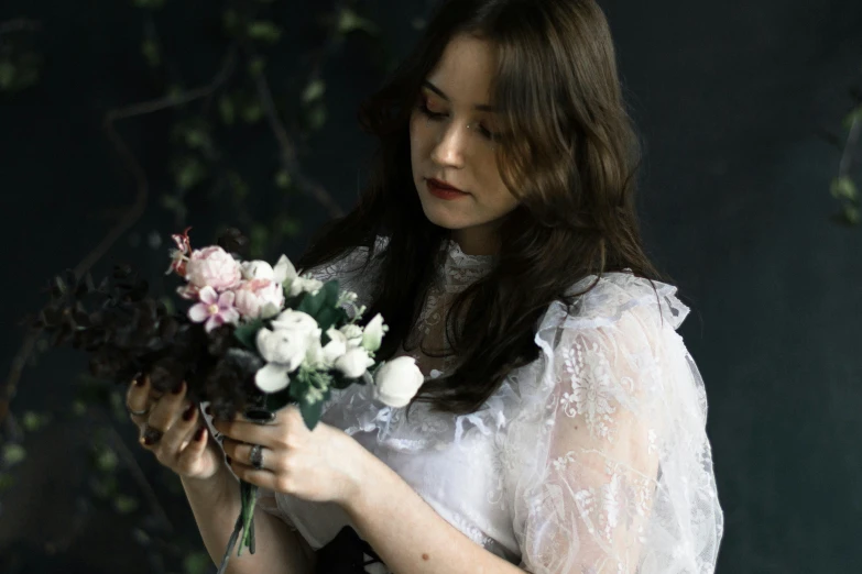
[[[521,567],[714,572],[723,519],[706,395],[681,339],[650,306],[558,336],[539,460],[515,497]]]

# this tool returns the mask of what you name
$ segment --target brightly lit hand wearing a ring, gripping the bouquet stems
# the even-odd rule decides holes
[[[241,479],[317,503],[346,506],[361,489],[368,451],[342,430],[318,422],[305,426],[298,407],[288,405],[268,424],[238,415],[214,420],[225,435],[228,464]],[[261,445],[262,468],[251,465],[252,445]]]

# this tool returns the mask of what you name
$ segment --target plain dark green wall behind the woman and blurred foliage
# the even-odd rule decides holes
[[[848,88],[862,84],[862,2],[600,3],[647,142],[644,232],[692,307],[681,332],[707,384],[727,520],[718,572],[861,572],[862,229],[829,220],[839,152],[817,134],[842,133],[853,103]],[[212,11],[203,0],[168,4],[160,25],[172,65],[187,85],[204,84],[222,48],[207,32],[214,23],[200,18]],[[288,34],[272,65],[282,87],[295,91],[307,69],[302,54],[319,43],[313,16],[330,2],[282,5]],[[426,12],[418,0],[356,5],[379,24],[389,57],[405,53],[416,34],[411,22]],[[37,46],[46,58],[39,85],[0,95],[3,376],[22,339],[17,321],[44,300],[37,288],[92,249],[110,210],[133,197],[100,124],[109,108],[160,96],[141,63],[138,14],[124,0],[0,3],[0,21],[42,23]],[[303,157],[345,209],[373,144],[354,112],[381,80],[374,45],[352,34],[327,59],[329,118]],[[173,185],[165,168],[171,120],[164,112],[121,126],[155,197]],[[275,150],[264,128],[232,143],[255,213],[279,194]],[[230,220],[205,196],[189,205],[200,236]],[[327,214],[302,197],[290,209],[305,222],[282,247],[295,257]],[[153,200],[105,261],[131,261],[159,280],[164,245],[150,249],[148,236],[173,230]],[[22,377],[14,412],[53,411],[55,420],[28,434],[26,459],[11,472],[15,484],[0,495],[4,573],[160,571],[132,536],[142,514],[78,511],[86,506],[83,460],[100,422],[64,416],[83,368],[77,355],[56,352]],[[149,454],[138,452],[131,423],[116,428],[142,468],[159,475]],[[134,481],[128,484],[134,490]],[[156,494],[170,499],[167,490]],[[186,508],[166,512],[175,529],[168,536],[199,544]]]

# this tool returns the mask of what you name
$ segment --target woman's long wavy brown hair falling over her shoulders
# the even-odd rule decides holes
[[[315,233],[297,267],[310,269],[368,247],[363,269],[373,263],[375,279],[360,324],[378,312],[385,318],[390,330],[378,361],[391,358],[406,341],[450,238],[422,209],[408,122],[422,81],[457,34],[497,49],[491,93],[509,134],[495,145],[497,162],[521,200],[501,221],[497,265],[447,312],[446,332],[460,365],[426,382],[413,399],[462,415],[478,410],[512,369],[538,357],[534,335],[548,306],[571,305],[598,279],[566,297],[576,282],[625,268],[663,278],[642,245],[634,201],[641,146],[608,22],[593,0],[443,1],[412,54],[360,107],[362,129],[380,145],[358,205]],[[390,241],[375,251],[378,235]]]

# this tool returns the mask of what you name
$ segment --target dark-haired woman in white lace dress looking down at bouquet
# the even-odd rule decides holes
[[[713,572],[706,394],[688,308],[641,242],[598,5],[445,1],[360,120],[371,180],[298,266],[382,313],[377,358],[413,356],[426,382],[402,409],[336,390],[314,432],[294,407],[215,421],[227,466],[183,389],[132,386],[214,561],[239,476],[261,496],[234,573]]]

